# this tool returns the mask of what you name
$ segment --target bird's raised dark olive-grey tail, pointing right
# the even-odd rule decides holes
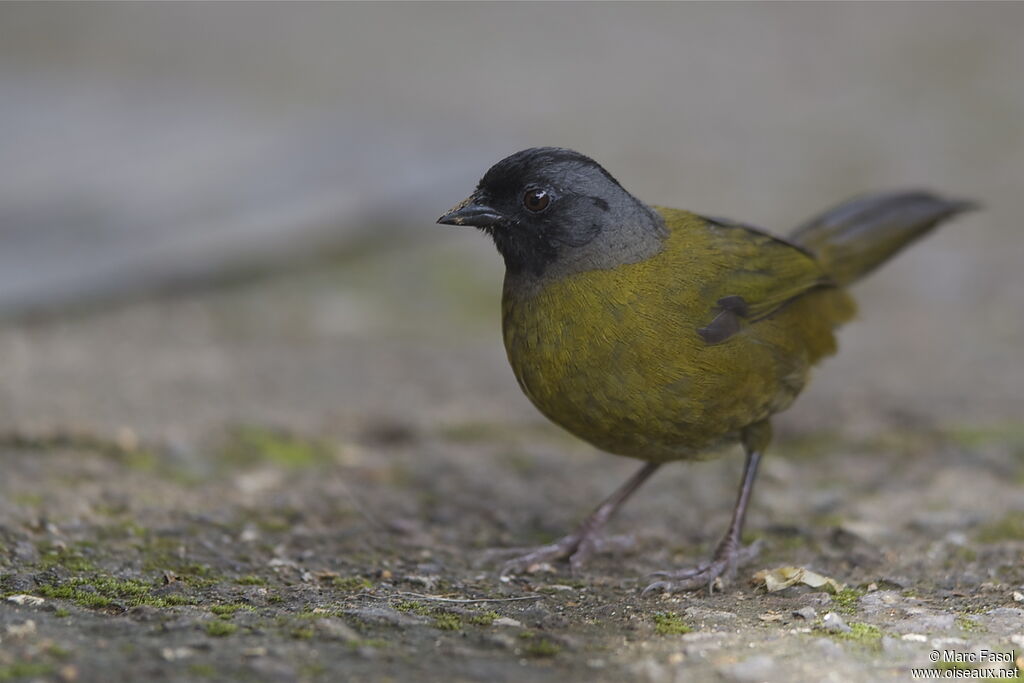
[[[977,206],[926,191],[867,195],[812,218],[790,240],[814,252],[838,284],[849,285],[946,218]]]

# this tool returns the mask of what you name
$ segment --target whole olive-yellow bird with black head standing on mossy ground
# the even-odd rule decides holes
[[[502,332],[523,393],[549,420],[642,467],[564,538],[503,575],[602,548],[622,505],[663,465],[739,443],[744,466],[713,555],[655,572],[648,592],[724,589],[757,553],[741,536],[771,419],[837,350],[848,287],[974,202],[926,190],[857,197],[787,237],[647,205],[593,159],[517,152],[437,222],[479,228],[505,262]]]

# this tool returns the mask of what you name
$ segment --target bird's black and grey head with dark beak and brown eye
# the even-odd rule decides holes
[[[510,272],[538,275],[563,259],[593,260],[588,254],[606,241],[602,234],[621,242],[615,233],[624,227],[659,225],[597,162],[561,147],[506,157],[437,222],[479,227],[494,238]]]

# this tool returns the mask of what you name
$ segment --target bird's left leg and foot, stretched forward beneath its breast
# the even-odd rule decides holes
[[[641,467],[615,493],[597,506],[575,531],[558,541],[541,546],[524,555],[509,560],[502,567],[501,575],[522,573],[544,562],[555,562],[568,558],[572,571],[583,568],[587,559],[602,547],[601,532],[623,503],[660,467],[659,463],[647,463]]]

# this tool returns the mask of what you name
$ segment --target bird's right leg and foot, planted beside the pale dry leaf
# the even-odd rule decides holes
[[[719,542],[711,561],[689,569],[655,572],[653,575],[664,577],[665,580],[654,582],[645,588],[643,591],[645,595],[654,591],[667,593],[690,591],[705,586],[710,591],[714,591],[716,584],[728,582],[736,573],[736,568],[740,564],[753,559],[758,554],[759,544],[755,543],[744,548],[740,545],[739,540],[743,532],[746,506],[750,504],[751,494],[754,492],[754,478],[757,476],[760,463],[761,451],[748,449],[746,464],[743,466],[743,480],[739,484],[736,507],[732,510],[732,521],[729,522],[729,529]]]

